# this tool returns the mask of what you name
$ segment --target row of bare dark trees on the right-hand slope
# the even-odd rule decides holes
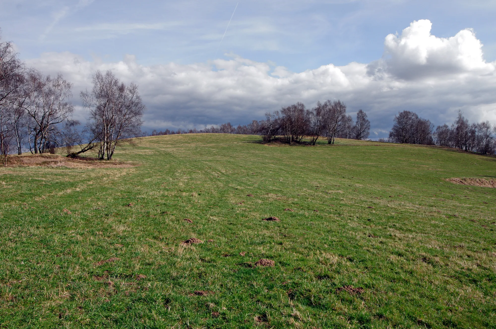
[[[481,154],[496,153],[496,125],[489,121],[470,124],[458,111],[455,122],[437,126],[411,111],[399,112],[389,132],[389,139],[381,142],[437,145]]]

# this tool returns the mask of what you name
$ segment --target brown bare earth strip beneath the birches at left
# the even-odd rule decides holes
[[[95,158],[71,159],[54,154],[33,154],[25,156],[9,156],[7,158],[9,167],[68,167],[68,168],[128,168],[136,165],[117,162],[97,160]]]

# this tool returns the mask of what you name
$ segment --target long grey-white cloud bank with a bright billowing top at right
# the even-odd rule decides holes
[[[364,109],[377,137],[387,135],[397,111],[413,110],[434,124],[451,123],[461,108],[471,120],[496,123],[496,62],[483,59],[482,43],[469,29],[450,38],[431,35],[431,22],[414,21],[384,41],[384,55],[369,64],[324,65],[294,73],[273,63],[236,55],[227,60],[144,66],[132,55],[105,63],[68,52],[45,53],[28,64],[62,72],[74,91],[91,88],[96,70],[112,70],[139,85],[148,112],[145,128],[202,128],[248,123],[267,111],[303,101],[344,100],[349,112]]]

